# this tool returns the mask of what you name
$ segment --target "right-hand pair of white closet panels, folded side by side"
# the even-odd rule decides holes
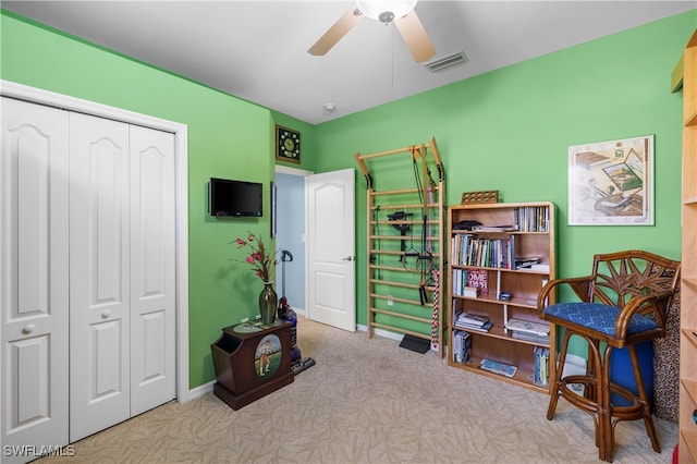
[[[71,413],[78,440],[174,399],[174,136],[71,114]]]

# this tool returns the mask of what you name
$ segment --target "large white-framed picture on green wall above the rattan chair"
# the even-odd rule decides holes
[[[653,135],[568,147],[568,225],[653,225]]]

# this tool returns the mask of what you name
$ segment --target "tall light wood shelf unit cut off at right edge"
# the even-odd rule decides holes
[[[697,32],[683,57],[680,462],[697,462]]]

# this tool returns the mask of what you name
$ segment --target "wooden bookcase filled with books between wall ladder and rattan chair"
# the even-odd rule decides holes
[[[551,362],[546,363],[543,377],[552,378],[554,327],[549,328],[547,339],[528,340],[508,326],[511,320],[546,323],[537,316],[537,297],[545,283],[554,279],[554,205],[546,202],[451,206],[448,236],[449,365],[549,391],[549,381],[536,379],[539,370],[536,352],[541,349],[549,355]],[[535,265],[530,267],[530,262]],[[469,291],[463,290],[481,286],[485,280],[486,291],[467,295]],[[502,300],[502,293],[509,293],[510,297]],[[461,313],[484,316],[491,328],[488,331],[463,329],[457,325]],[[463,330],[469,333],[466,361],[456,358],[453,350],[455,343],[460,346]],[[515,375],[508,377],[485,370],[480,367],[482,359],[515,366]]]

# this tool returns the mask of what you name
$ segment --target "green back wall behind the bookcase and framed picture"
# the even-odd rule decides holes
[[[553,202],[558,277],[590,271],[595,253],[640,248],[680,258],[682,93],[670,74],[695,11],[461,81],[317,126],[317,171],[435,137],[447,204],[499,190],[503,202]],[[466,65],[466,64],[465,64]],[[568,227],[567,147],[655,135],[653,227]],[[405,160],[404,182],[414,180]],[[389,172],[372,172],[376,184]],[[366,184],[356,180],[357,319],[366,323]]]

